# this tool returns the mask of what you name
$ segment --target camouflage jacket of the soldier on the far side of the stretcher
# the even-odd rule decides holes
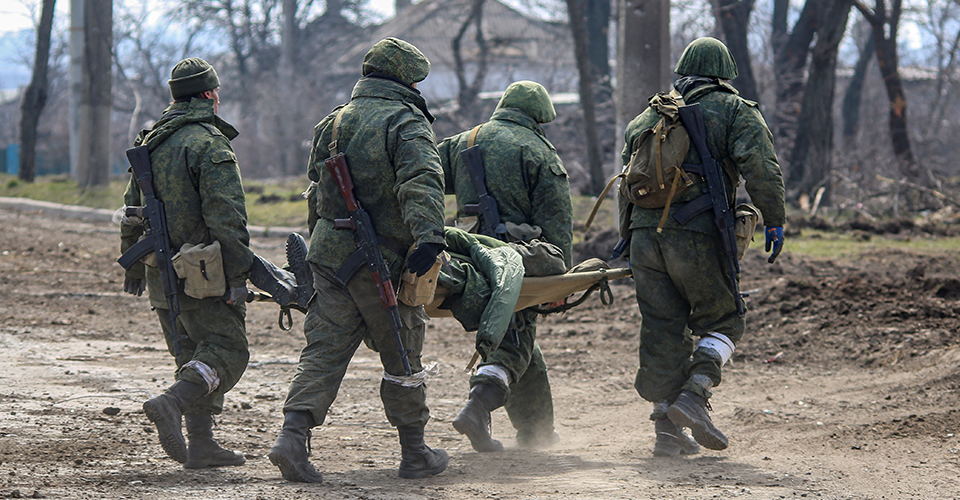
[[[440,161],[448,194],[457,195],[457,216],[464,205],[476,203],[477,190],[460,151],[467,148],[470,131],[440,143]],[[526,113],[500,108],[477,133],[483,156],[487,192],[500,210],[502,222],[540,226],[541,238],[563,251],[567,268],[572,262],[573,216],[570,183],[556,148],[543,129]]]

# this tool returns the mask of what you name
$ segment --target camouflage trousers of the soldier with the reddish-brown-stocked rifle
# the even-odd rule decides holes
[[[405,373],[389,317],[370,274],[361,269],[343,286],[333,269],[315,264],[311,267],[317,294],[303,322],[307,345],[300,353],[283,412],[310,412],[314,425],[320,425],[361,342],[379,352],[387,373],[401,377]],[[410,351],[411,371],[417,373],[423,370],[420,353],[427,315],[423,307],[400,304],[400,318],[403,347]],[[387,420],[395,427],[423,427],[430,419],[426,385],[403,387],[381,379],[380,399]]]

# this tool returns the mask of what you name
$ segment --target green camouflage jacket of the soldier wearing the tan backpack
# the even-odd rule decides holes
[[[687,90],[684,94],[686,104],[700,103],[703,121],[707,129],[707,148],[713,157],[725,165],[728,175],[724,176],[730,204],[735,201],[736,186],[740,179],[731,179],[736,172],[746,180],[746,190],[751,202],[763,214],[767,226],[782,226],[785,222],[783,176],[777,154],[773,149],[773,136],[760,115],[757,103],[743,99],[737,90],[723,81],[701,84]],[[624,134],[626,143],[622,159],[624,165],[630,162],[631,145],[645,129],[652,128],[658,120],[657,113],[647,108],[628,125]],[[686,163],[699,164],[700,154],[691,144]],[[713,211],[708,210],[694,217],[685,226],[673,217],[677,210],[702,194],[698,186],[688,189],[683,196],[670,207],[664,227],[686,229],[701,233],[716,231]],[[662,208],[640,208],[620,198],[621,214],[632,209],[629,229],[657,227],[663,214]],[[624,221],[625,223],[625,221]]]

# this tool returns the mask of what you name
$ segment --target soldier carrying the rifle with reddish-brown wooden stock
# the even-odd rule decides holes
[[[380,398],[387,419],[400,434],[400,477],[431,476],[447,466],[446,452],[431,450],[423,441],[430,418],[420,361],[427,316],[422,306],[400,305],[400,333],[413,371],[406,376],[370,274],[338,274],[349,267],[344,264],[356,245],[352,231],[334,227],[334,220],[346,218],[348,212],[324,165],[334,147],[346,155],[354,192],[373,221],[393,282],[398,282],[404,256],[414,244],[407,268],[425,273],[444,248],[443,171],[433,116],[416,88],[429,70],[430,62],[413,45],[396,38],[377,42],[363,59],[363,77],[350,102],[338,106],[314,129],[307,168],[317,192],[311,203],[316,210],[310,214],[307,260],[316,296],[304,320],[307,345],[283,406],[283,428],[269,455],[287,480],[322,480],[307,459],[307,436],[323,423],[361,341],[380,353],[384,368]]]

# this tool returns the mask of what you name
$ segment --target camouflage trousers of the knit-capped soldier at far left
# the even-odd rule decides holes
[[[174,356],[170,313],[167,309],[156,311],[167,341],[167,350]],[[176,379],[207,385],[196,370],[180,369],[191,360],[200,361],[213,368],[220,378],[220,386],[200,398],[188,410],[189,413],[219,415],[223,411],[223,395],[237,385],[247,369],[250,350],[247,347],[247,328],[244,322],[246,313],[246,304],[232,306],[216,297],[203,299],[200,308],[181,310],[177,316],[177,333],[181,338],[180,356],[175,357]]]

